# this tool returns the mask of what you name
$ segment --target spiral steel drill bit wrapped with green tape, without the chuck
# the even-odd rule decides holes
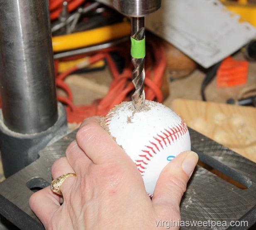
[[[144,17],[131,17],[131,34],[134,41],[143,41],[145,37],[145,22]],[[133,46],[133,43],[132,43]],[[131,50],[134,47],[131,48]],[[144,47],[135,47],[136,52],[145,52]],[[131,52],[132,53],[132,52]],[[144,79],[145,79],[145,69],[144,69],[145,57],[144,55],[132,55],[132,64],[134,65],[134,70],[132,72],[132,83],[135,87],[135,92],[132,94],[132,103],[136,110],[141,110],[144,107],[145,93],[144,93]]]

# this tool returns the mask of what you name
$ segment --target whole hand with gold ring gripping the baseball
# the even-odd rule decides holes
[[[100,126],[83,121],[66,157],[52,166],[53,178],[76,173],[61,185],[32,194],[29,205],[46,229],[160,229],[159,220],[180,219],[180,200],[198,156],[180,153],[162,170],[152,200],[132,159]],[[171,228],[178,229],[178,228]]]

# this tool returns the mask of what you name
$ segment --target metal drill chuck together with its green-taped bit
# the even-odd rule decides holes
[[[161,0],[114,0],[113,5],[131,20],[132,83],[135,86],[132,103],[136,110],[140,110],[145,101],[145,16],[158,10]]]

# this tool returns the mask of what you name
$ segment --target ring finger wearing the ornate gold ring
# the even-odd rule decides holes
[[[61,175],[64,175],[66,173],[75,173],[71,165],[68,163],[66,157],[59,158],[54,162],[54,164],[51,167],[51,175],[53,179],[56,179],[57,177],[60,177]],[[65,196],[70,193],[70,189],[76,180],[76,177],[68,177],[66,178],[63,183],[61,184],[61,193],[63,195],[63,198],[65,199]]]

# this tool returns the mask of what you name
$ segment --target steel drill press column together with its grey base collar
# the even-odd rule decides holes
[[[0,152],[5,177],[66,134],[57,103],[48,0],[0,0]]]

